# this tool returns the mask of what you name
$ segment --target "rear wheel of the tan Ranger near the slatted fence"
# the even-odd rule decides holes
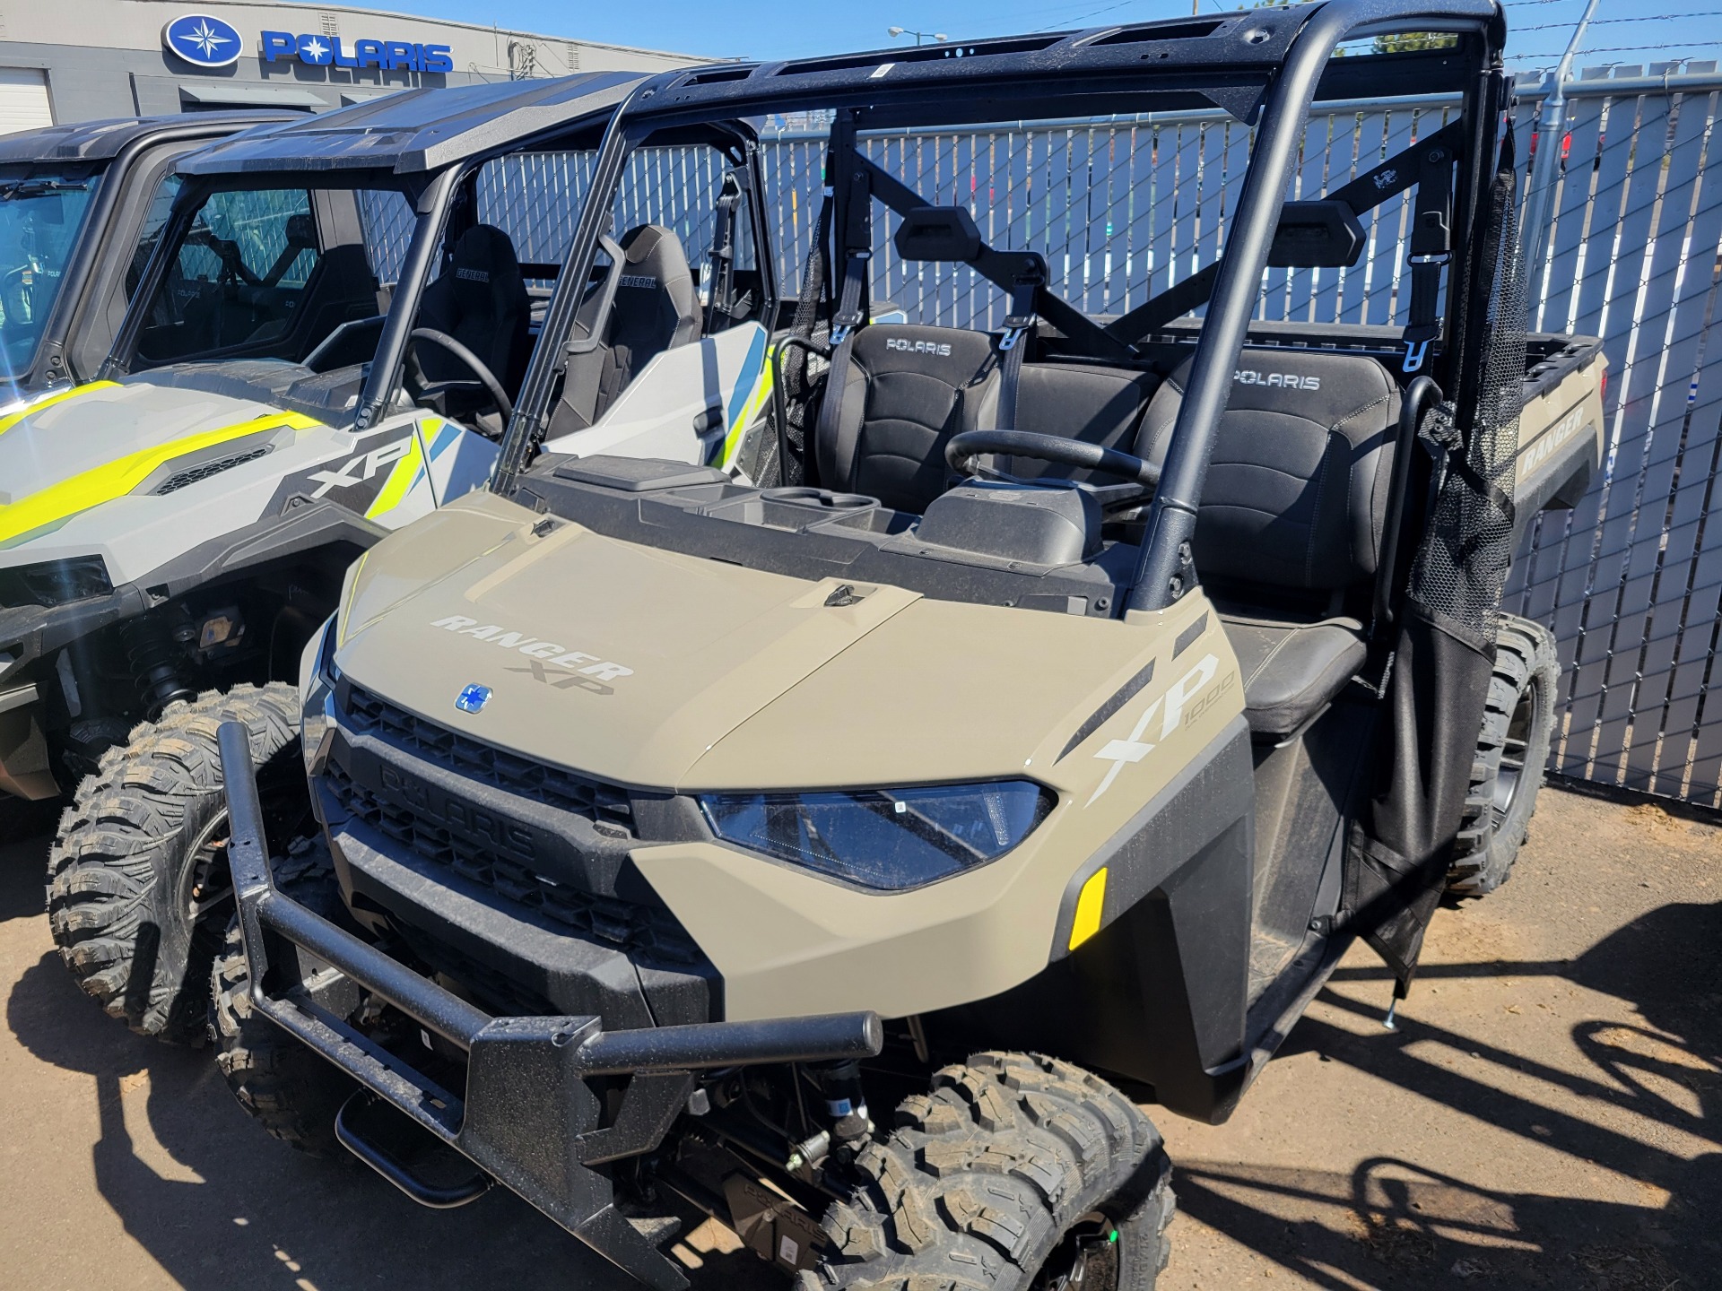
[[[1455,897],[1483,897],[1512,876],[1543,787],[1558,685],[1560,661],[1548,628],[1502,615],[1465,816],[1446,876]]]

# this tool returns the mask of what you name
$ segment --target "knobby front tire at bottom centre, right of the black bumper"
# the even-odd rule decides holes
[[[1159,1131],[1056,1059],[976,1053],[906,1098],[825,1215],[802,1291],[1147,1291],[1174,1198]]]

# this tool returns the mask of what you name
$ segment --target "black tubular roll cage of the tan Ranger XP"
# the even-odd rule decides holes
[[[1343,41],[1410,31],[1452,33],[1457,41],[1450,50],[1371,59],[1333,57]],[[620,184],[623,165],[653,134],[766,112],[837,108],[832,157],[856,158],[858,127],[885,129],[928,120],[983,124],[1078,115],[1081,110],[1090,115],[1140,112],[1143,100],[1154,108],[1221,107],[1257,127],[1226,243],[1214,265],[1157,298],[1166,305],[1188,301],[1185,308],[1202,298],[1209,301],[1190,382],[1147,516],[1135,578],[1123,606],[1124,611],[1164,609],[1195,584],[1192,539],[1207,461],[1226,410],[1231,374],[1248,332],[1257,284],[1269,263],[1269,248],[1310,107],[1317,100],[1402,98],[1452,93],[1455,88],[1462,93],[1459,119],[1443,129],[1450,139],[1464,139],[1453,188],[1455,253],[1443,330],[1450,339],[1469,337],[1481,332],[1479,327],[1464,325],[1465,312],[1477,308],[1477,301],[1471,300],[1474,293],[1462,289],[1479,279],[1479,267],[1469,263],[1481,244],[1472,225],[1479,219],[1479,195],[1486,189],[1488,167],[1493,164],[1500,115],[1512,93],[1512,84],[1502,72],[1503,46],[1505,19],[1495,0],[1324,0],[1292,9],[1243,10],[1217,19],[1178,19],[1045,38],[1002,38],[840,59],[751,67],[725,64],[663,72],[635,86],[610,122],[594,167],[591,196],[570,246],[568,272],[563,272],[551,300],[491,489],[503,496],[515,489],[548,429],[561,341],[580,301],[580,293],[570,284],[584,284],[591,277],[599,238],[610,234],[610,198]],[[1378,74],[1369,64],[1390,67]],[[859,160],[873,196],[887,207],[901,207],[914,196],[894,177],[864,158]],[[598,195],[606,200],[598,200]],[[842,231],[847,227],[847,184],[835,186],[835,198],[832,225],[840,256]],[[1021,260],[1021,253],[992,255],[999,258],[995,269],[1000,270],[1004,262]],[[987,272],[980,263],[973,267],[999,282],[999,274]],[[842,263],[833,260],[832,277],[840,274]],[[1042,293],[1042,300],[1052,305],[1042,317],[1056,327],[1061,320],[1068,324],[1061,330],[1097,334],[1102,344],[1123,346],[1121,325],[1126,320],[1100,329],[1050,293]],[[1071,322],[1068,315],[1078,315],[1080,322]],[[1457,394],[1460,423],[1467,425],[1467,406],[1476,401],[1477,391],[1472,374],[1462,370],[1453,346],[1436,358],[1434,377],[1443,389]]]

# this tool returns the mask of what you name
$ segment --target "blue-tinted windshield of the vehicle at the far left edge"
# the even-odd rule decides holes
[[[29,372],[95,179],[0,181],[0,379]]]

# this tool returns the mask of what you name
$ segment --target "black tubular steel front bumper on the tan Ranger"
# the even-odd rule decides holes
[[[604,1031],[592,1016],[492,1017],[279,893],[243,725],[222,725],[220,756],[258,1012],[651,1288],[687,1281],[623,1219],[608,1176],[591,1167],[656,1148],[699,1069],[880,1052],[871,1012],[630,1031]],[[348,1026],[355,986],[465,1050],[465,1093],[449,1093]],[[629,1078],[608,1124],[585,1083],[596,1076]]]

